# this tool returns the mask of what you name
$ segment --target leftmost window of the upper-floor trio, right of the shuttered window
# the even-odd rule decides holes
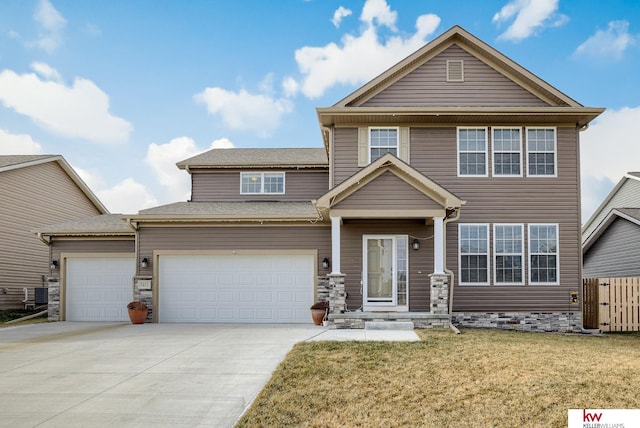
[[[458,175],[487,177],[487,128],[458,127]]]

